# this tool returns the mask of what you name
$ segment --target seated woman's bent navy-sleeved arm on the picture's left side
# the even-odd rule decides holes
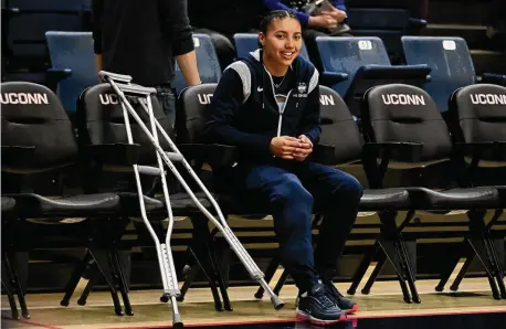
[[[208,142],[236,146],[249,152],[268,155],[271,137],[247,134],[232,123],[244,99],[241,77],[233,70],[225,70],[205,110],[204,136]]]

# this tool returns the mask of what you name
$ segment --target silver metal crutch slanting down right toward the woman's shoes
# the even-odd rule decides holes
[[[140,105],[144,107],[144,109],[149,114],[150,120],[151,120],[151,126],[155,128],[158,128],[160,130],[164,139],[168,142],[170,148],[173,150],[172,152],[166,152],[160,145],[158,144],[158,139],[156,136],[151,135],[150,131],[147,129],[146,125],[143,123],[143,120],[139,118],[139,116],[136,114],[135,109],[131,107],[131,105],[128,103],[128,100],[125,97],[124,92],[135,94],[135,95],[146,95],[149,96],[156,91],[154,88],[143,88],[143,87],[137,87],[137,86],[131,86],[125,83],[130,82],[130,77],[128,76],[123,76],[123,75],[115,75],[110,74],[107,72],[99,72],[99,76],[103,81],[109,82],[112,85],[113,89],[115,93],[118,95],[122,105],[124,105],[124,109],[126,108],[128,113],[134,117],[134,119],[138,123],[139,127],[146,132],[147,137],[151,141],[151,144],[155,146],[157,153],[158,153],[158,159],[162,159],[166,166],[171,170],[173,176],[178,179],[178,181],[181,183],[182,188],[187,191],[187,193],[190,195],[192,201],[196,203],[196,205],[200,209],[200,211],[217,226],[220,232],[222,232],[223,236],[225,237],[226,242],[230,244],[231,248],[234,251],[234,253],[238,255],[240,261],[243,263],[243,265],[246,267],[247,272],[250,273],[251,277],[260,283],[262,287],[264,287],[265,291],[271,296],[271,301],[273,303],[274,307],[276,309],[280,309],[284,306],[284,303],[274,294],[274,291],[268,287],[267,283],[264,279],[264,274],[262,270],[259,268],[259,266],[254,263],[254,261],[251,258],[249,253],[245,251],[239,238],[233,234],[232,230],[228,225],[221,209],[217,204],[215,200],[213,197],[210,194],[205,185],[202,183],[202,181],[198,178],[198,176],[194,173],[193,169],[191,166],[187,162],[185,157],[182,157],[181,152],[178,150],[176,145],[172,142],[168,134],[164,130],[161,125],[155,119],[154,114],[152,114],[152,108],[151,108],[151,102],[150,98],[147,97],[147,105],[143,102],[140,102]],[[123,84],[117,84],[116,81],[119,81]],[[126,110],[125,110],[125,115]],[[154,131],[156,130],[154,129]],[[129,129],[127,129],[129,130]],[[131,139],[130,139],[131,140]],[[160,161],[161,161],[160,159]],[[185,179],[181,177],[181,174],[178,172],[176,167],[173,166],[172,161],[180,162],[187,171],[190,173],[190,176],[193,178],[196,181],[197,185],[204,192],[205,197],[209,199],[211,202],[212,206],[214,208],[215,212],[218,213],[218,217],[215,219],[202,204],[201,202],[197,199],[197,197],[193,194],[189,185],[186,183]],[[136,168],[136,166],[134,166]],[[161,168],[160,168],[161,170]],[[136,170],[136,174],[138,174],[138,170]],[[165,182],[165,177],[162,179],[162,183]],[[165,184],[164,184],[165,185]],[[166,199],[168,198],[166,193]],[[167,202],[167,206],[169,208],[169,203]],[[169,224],[170,226],[170,224]],[[149,229],[149,227],[148,227]],[[170,230],[169,230],[170,231]],[[168,242],[170,242],[170,235],[167,234]],[[175,300],[176,301],[176,300]]]

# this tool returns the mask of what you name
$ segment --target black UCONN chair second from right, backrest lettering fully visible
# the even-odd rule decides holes
[[[438,162],[447,162],[452,158],[453,147],[446,124],[430,95],[414,86],[391,84],[369,89],[363,97],[363,130],[369,142],[392,144],[386,149],[400,158],[399,166],[419,168]],[[418,144],[418,155],[405,145]],[[376,158],[369,159],[377,162]],[[389,161],[381,161],[377,168],[387,168]],[[399,168],[399,166],[396,166]],[[497,273],[494,253],[483,235],[484,217],[488,210],[500,209],[500,199],[494,188],[456,188],[432,190],[420,185],[407,188],[413,210],[418,212],[436,212],[451,214],[454,210],[465,210],[468,219],[470,237],[477,246],[475,252],[486,268],[493,297],[499,299],[504,283],[495,280]],[[399,234],[402,231],[399,227]],[[367,257],[363,259],[370,263]],[[370,285],[375,282],[384,262],[379,262]],[[368,290],[362,293],[369,293]]]

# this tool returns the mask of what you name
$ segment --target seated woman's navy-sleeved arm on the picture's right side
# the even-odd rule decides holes
[[[313,147],[318,144],[321,135],[318,76],[318,71],[314,68],[313,77],[309,82],[309,94],[307,95],[307,103],[301,121],[301,135],[305,135]]]

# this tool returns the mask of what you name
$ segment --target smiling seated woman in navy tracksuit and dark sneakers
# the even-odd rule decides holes
[[[298,56],[302,26],[282,10],[261,23],[261,49],[223,73],[207,110],[204,138],[238,147],[233,193],[270,209],[280,255],[298,287],[297,316],[331,323],[358,309],[334,286],[336,261],[362,194],[350,174],[310,161],[321,132],[318,72]],[[325,219],[316,251],[313,206]]]

